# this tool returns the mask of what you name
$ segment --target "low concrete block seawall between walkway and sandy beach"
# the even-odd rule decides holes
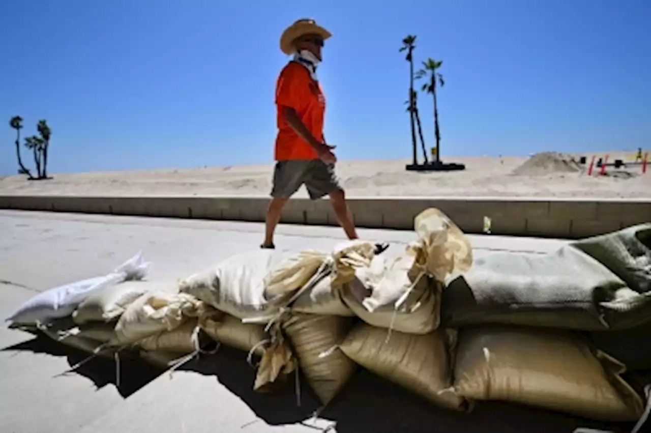
[[[268,197],[0,196],[0,209],[85,214],[264,221]],[[349,199],[358,227],[413,229],[413,218],[436,207],[467,233],[583,238],[651,221],[651,200],[492,197],[360,197]],[[327,200],[292,199],[282,223],[337,225]]]

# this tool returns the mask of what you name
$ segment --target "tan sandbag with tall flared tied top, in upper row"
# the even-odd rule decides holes
[[[435,208],[421,212],[414,228],[417,242],[391,263],[380,255],[370,266],[357,268],[342,298],[372,326],[426,334],[439,326],[440,282],[467,272],[472,251],[463,232]]]

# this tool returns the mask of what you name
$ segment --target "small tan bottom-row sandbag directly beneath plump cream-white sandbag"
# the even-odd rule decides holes
[[[202,320],[200,327],[210,338],[227,346],[245,352],[255,347],[256,355],[262,356],[264,353],[264,345],[260,342],[267,340],[268,335],[263,325],[242,323],[242,320],[223,313],[218,318]]]

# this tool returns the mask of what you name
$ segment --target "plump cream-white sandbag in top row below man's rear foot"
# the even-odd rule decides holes
[[[275,305],[264,295],[264,277],[281,258],[271,249],[234,255],[182,280],[180,291],[240,319],[269,314]]]

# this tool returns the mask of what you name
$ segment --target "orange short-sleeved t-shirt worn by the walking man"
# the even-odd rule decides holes
[[[276,84],[278,135],[275,160],[318,160],[314,148],[299,137],[284,119],[283,107],[296,110],[314,138],[323,140],[326,97],[307,68],[296,62],[290,62],[283,68]]]

